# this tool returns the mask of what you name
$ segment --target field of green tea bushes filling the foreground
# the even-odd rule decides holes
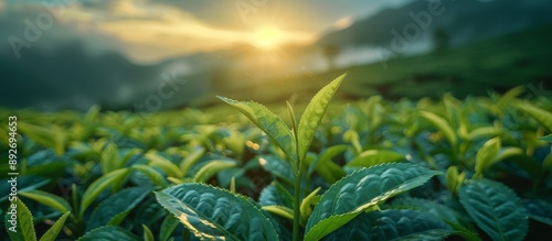
[[[518,87],[330,105],[342,81],[274,112],[227,98],[233,108],[159,113],[0,109],[21,125],[18,233],[4,222],[0,237],[291,240],[295,226],[301,240],[522,240],[550,229],[550,99]]]

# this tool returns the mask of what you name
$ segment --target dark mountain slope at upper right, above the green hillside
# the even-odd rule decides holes
[[[390,47],[395,35],[408,42],[427,41],[437,30],[449,44],[458,45],[552,22],[550,9],[552,2],[546,0],[414,1],[330,31],[315,45]]]

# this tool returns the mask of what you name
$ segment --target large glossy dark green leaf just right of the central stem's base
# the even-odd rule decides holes
[[[319,240],[365,209],[421,186],[437,174],[440,173],[399,163],[359,169],[331,185],[322,195],[307,222],[305,240]]]

